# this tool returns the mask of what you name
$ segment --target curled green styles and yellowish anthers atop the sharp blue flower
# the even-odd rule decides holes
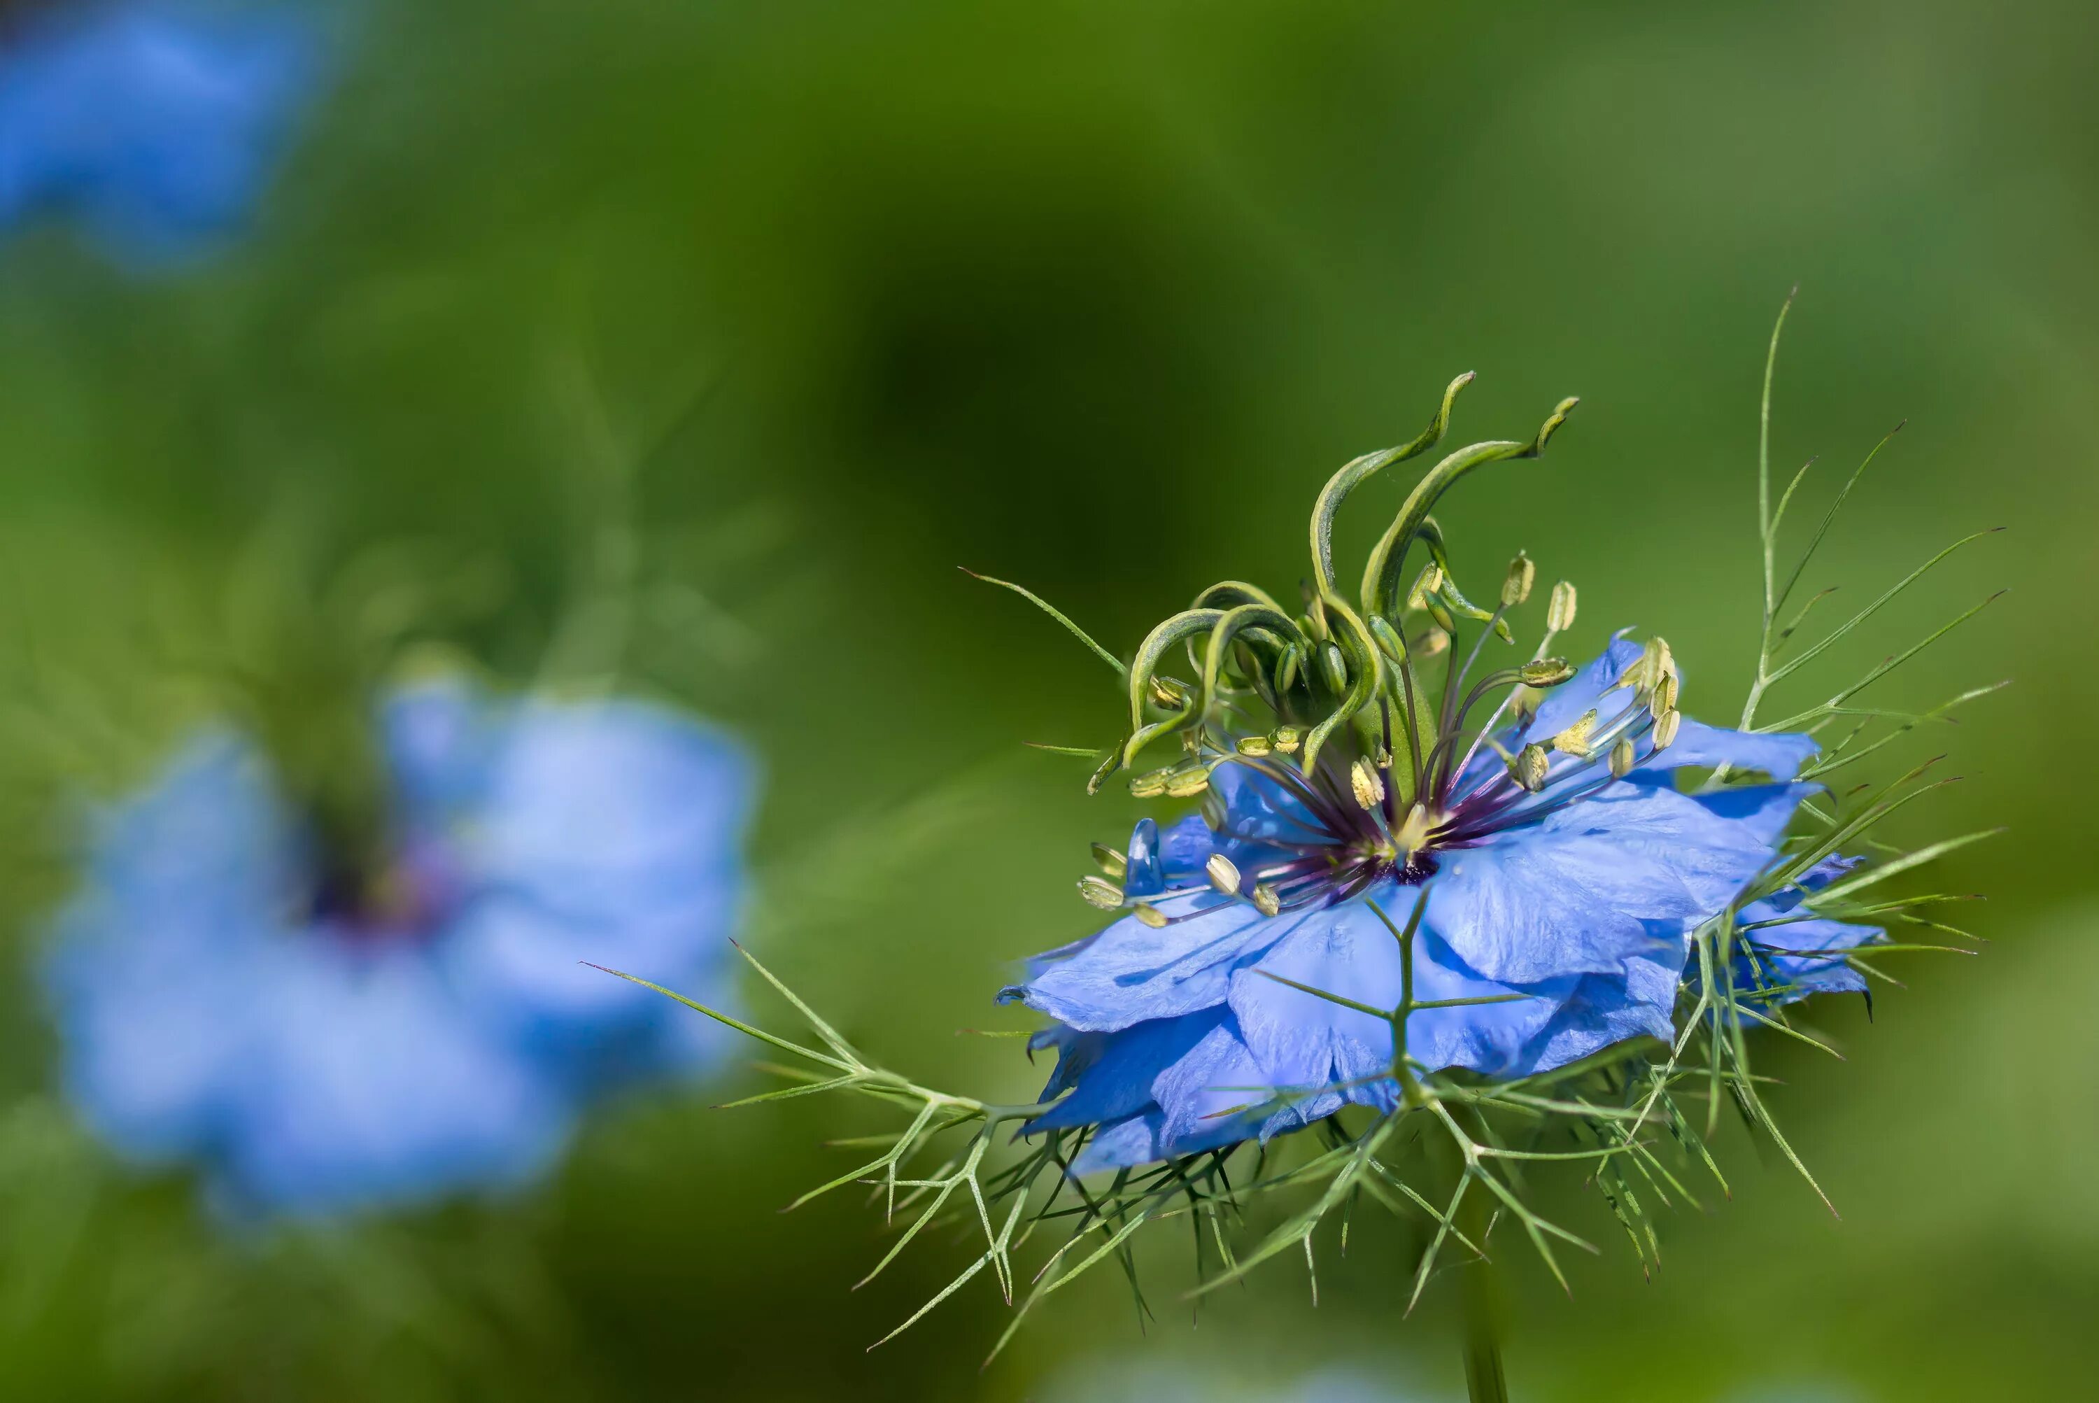
[[[1138,752],[1178,735],[1182,760],[1138,773],[1138,798],[1196,798],[1220,840],[1282,849],[1287,861],[1241,872],[1226,853],[1203,876],[1217,895],[1255,905],[1264,916],[1348,901],[1394,876],[1419,884],[1434,876],[1438,853],[1536,823],[1625,779],[1677,733],[1681,678],[1669,645],[1652,638],[1639,659],[1591,708],[1551,735],[1532,735],[1539,704],[1574,668],[1549,649],[1574,622],[1574,586],[1562,580],[1545,609],[1545,636],[1532,657],[1471,680],[1488,636],[1513,643],[1509,615],[1536,584],[1536,565],[1518,554],[1492,609],[1471,603],[1450,573],[1442,531],[1429,508],[1459,477],[1501,458],[1534,458],[1574,407],[1562,401],[1528,443],[1478,443],[1446,458],[1406,498],[1392,529],[1371,552],[1360,605],[1333,582],[1331,525],[1348,494],[1379,468],[1432,447],[1450,401],[1471,380],[1459,376],[1436,420],[1415,441],[1366,454],[1327,483],[1312,515],[1314,580],[1303,611],[1289,615],[1272,596],[1243,582],[1215,584],[1194,605],[1159,624],[1129,666],[1131,731],[1096,771],[1098,790]],[[1400,592],[1408,550],[1427,563]],[[1478,624],[1463,647],[1461,624]],[[1199,683],[1159,672],[1184,647]],[[1461,655],[1463,649],[1463,655]],[[1623,704],[1612,710],[1612,699]],[[1606,716],[1604,712],[1610,710]],[[1484,712],[1484,718],[1482,718]],[[1266,714],[1266,716],[1264,716]],[[1274,725],[1255,729],[1272,718]],[[1482,750],[1492,756],[1482,756]],[[1217,767],[1245,765],[1291,796],[1303,815],[1278,815],[1289,832],[1241,834],[1209,794]],[[1104,876],[1079,880],[1100,909],[1129,909],[1148,926],[1190,920],[1205,909],[1167,916],[1154,899],[1159,876],[1150,828],[1129,853],[1094,846]]]

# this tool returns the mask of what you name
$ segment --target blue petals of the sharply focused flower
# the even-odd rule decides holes
[[[1266,1138],[1345,1103],[1392,1109],[1392,1025],[1306,989],[1396,1008],[1394,926],[1423,899],[1415,1000],[1507,1002],[1417,1010],[1406,1052],[1421,1071],[1518,1077],[1671,1038],[1688,939],[1776,857],[1811,792],[1790,781],[1816,744],[1679,718],[1658,750],[1652,710],[1637,695],[1612,701],[1641,655],[1612,641],[1501,737],[1511,752],[1532,735],[1568,737],[1534,788],[1492,756],[1455,767],[1404,861],[1364,842],[1364,811],[1333,767],[1297,779],[1226,762],[1211,775],[1215,828],[1140,823],[1123,888],[1150,909],[1039,956],[1001,996],[1056,1019],[1037,1040],[1058,1048],[1045,1096],[1070,1094],[1035,1128],[1096,1126],[1073,1166],[1085,1172]],[[1627,773],[1599,773],[1618,741],[1631,746]],[[1673,788],[1675,769],[1723,762],[1776,783]],[[1247,886],[1268,882],[1280,909],[1213,891],[1213,855]]]

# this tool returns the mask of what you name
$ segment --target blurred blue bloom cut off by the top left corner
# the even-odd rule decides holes
[[[52,6],[0,36],[0,227],[78,221],[164,265],[237,229],[313,95],[300,8],[195,0]]]

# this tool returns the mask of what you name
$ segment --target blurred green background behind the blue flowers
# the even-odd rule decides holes
[[[1289,588],[1324,475],[1478,370],[1467,439],[1583,407],[1448,504],[1471,578],[1528,548],[1578,582],[1578,647],[1665,632],[1690,710],[1730,720],[1757,384],[1799,281],[1774,460],[1824,454],[1811,510],[1908,420],[1809,584],[1856,607],[2011,527],[1841,649],[1858,672],[2013,588],[1885,691],[2017,678],[1921,741],[1969,779],[1908,830],[2011,825],[1944,872],[1990,893],[1994,943],[1912,956],[1870,1023],[1820,1008],[1845,1065],[1763,1050],[1841,1222],[1734,1145],[1734,1201],[1677,1212],[1648,1279],[1547,1180],[1606,1250],[1572,1300],[1511,1254],[1515,1397],[2089,1388],[2099,11],[453,0],[357,29],[218,263],[145,281],[59,233],[0,250],[0,647],[44,678],[10,685],[0,756],[23,949],[65,891],[63,792],[139,779],[193,716],[126,643],[143,615],[290,512],[323,567],[405,538],[500,561],[506,603],[458,636],[523,674],[605,475],[646,456],[649,565],[718,613],[659,630],[636,687],[766,756],[754,939],[890,1065],[1029,1096],[1014,1042],[957,1029],[1024,1025],[991,993],[1087,928],[1070,878],[1133,811],[1020,750],[1110,739],[1110,678],[955,567],[1129,649],[1211,580]],[[1364,494],[1343,548],[1400,491]],[[1190,1327],[1159,1241],[1144,1327],[1102,1273],[980,1374],[1005,1311],[978,1281],[863,1353],[966,1248],[848,1292],[879,1222],[772,1210],[877,1122],[707,1111],[743,1073],[596,1117],[512,1203],[229,1237],[69,1126],[27,977],[4,1029],[8,1397],[1024,1399],[1096,1355],[1457,1386],[1446,1304],[1398,1315],[1390,1229],[1322,1262],[1318,1308],[1278,1264]]]

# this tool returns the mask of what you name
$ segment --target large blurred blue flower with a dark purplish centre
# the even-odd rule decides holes
[[[594,1094],[716,1050],[705,1019],[579,962],[726,996],[743,750],[655,706],[460,683],[393,693],[380,729],[374,909],[330,909],[262,754],[210,733],[103,815],[57,918],[76,1105],[241,1210],[518,1185]]]

